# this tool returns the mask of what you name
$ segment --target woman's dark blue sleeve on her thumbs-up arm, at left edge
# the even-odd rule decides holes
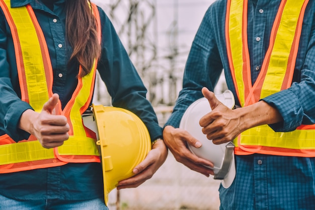
[[[30,105],[22,101],[16,94],[12,78],[12,65],[8,62],[8,25],[5,21],[3,12],[0,12],[0,135],[7,133],[15,141],[27,139],[29,133],[18,128],[22,113],[31,109]],[[15,73],[16,74],[16,73]]]

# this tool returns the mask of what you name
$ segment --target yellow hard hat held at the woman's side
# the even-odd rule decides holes
[[[119,181],[134,175],[132,170],[151,150],[151,141],[146,126],[134,113],[103,105],[93,104],[92,108],[98,130],[97,145],[101,150],[104,198],[108,205],[110,191]]]

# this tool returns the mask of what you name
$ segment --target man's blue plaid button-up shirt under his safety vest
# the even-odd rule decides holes
[[[248,46],[254,83],[260,73],[280,0],[249,0]],[[183,89],[166,125],[178,127],[187,107],[213,90],[224,69],[227,87],[236,96],[225,44],[226,1],[214,2],[206,12],[192,43]],[[315,123],[315,1],[305,11],[292,86],[262,100],[276,107],[283,122],[275,131],[291,131]],[[260,39],[256,39],[259,37]],[[236,98],[236,97],[235,97]],[[236,102],[238,105],[239,102]],[[314,154],[315,156],[315,154]],[[315,209],[315,159],[254,154],[236,156],[237,176],[220,186],[221,209]]]

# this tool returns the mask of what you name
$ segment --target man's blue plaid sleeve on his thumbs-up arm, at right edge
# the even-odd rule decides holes
[[[269,125],[275,131],[292,131],[301,124],[315,124],[315,22],[313,13],[307,14],[301,35],[299,53],[304,61],[295,69],[291,87],[262,100],[277,108],[283,122]],[[301,56],[300,56],[301,57]]]

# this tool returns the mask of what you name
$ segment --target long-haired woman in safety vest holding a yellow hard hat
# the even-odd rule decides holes
[[[109,18],[86,0],[0,0],[0,10],[0,209],[108,209],[96,133],[82,120],[96,71],[113,106],[136,114],[154,143],[117,189],[139,186],[167,157]]]

